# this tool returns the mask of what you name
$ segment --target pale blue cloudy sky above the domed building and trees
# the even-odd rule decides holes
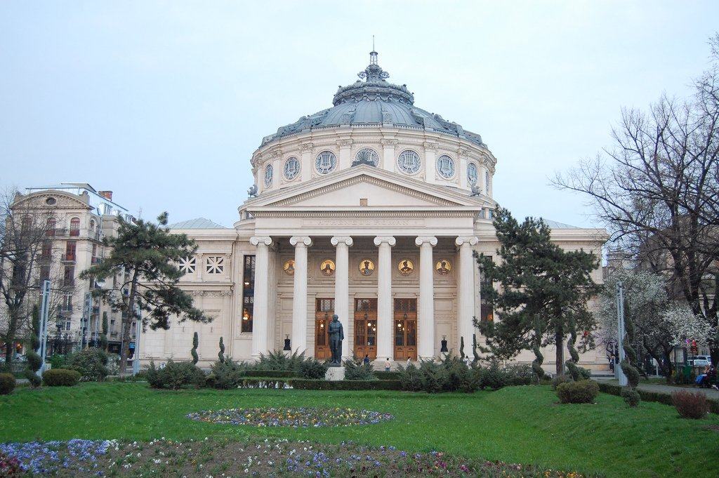
[[[717,1],[0,2],[0,188],[113,190],[135,215],[232,226],[262,137],[369,61],[482,135],[515,216],[601,226],[551,178],[623,107],[690,94]]]

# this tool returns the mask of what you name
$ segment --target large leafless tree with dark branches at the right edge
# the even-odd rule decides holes
[[[685,101],[662,96],[648,112],[624,109],[614,147],[587,160],[559,188],[585,193],[611,239],[641,267],[663,275],[713,330],[719,360],[719,35],[710,67]]]

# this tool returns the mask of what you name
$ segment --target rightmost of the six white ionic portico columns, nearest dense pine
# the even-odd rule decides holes
[[[464,354],[471,356],[472,334],[475,326],[472,319],[475,316],[475,273],[472,246],[477,244],[475,236],[459,236],[454,242],[459,247],[459,293],[457,311],[457,354],[459,345],[464,337]]]

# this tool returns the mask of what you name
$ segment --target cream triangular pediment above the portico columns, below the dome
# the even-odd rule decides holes
[[[347,208],[367,200],[372,208],[479,208],[482,202],[460,190],[430,185],[377,167],[358,166],[326,178],[260,195],[247,206],[255,208]],[[364,202],[364,201],[362,201]]]

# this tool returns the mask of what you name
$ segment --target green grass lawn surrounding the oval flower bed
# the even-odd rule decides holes
[[[596,405],[558,405],[549,387],[508,387],[473,395],[308,390],[150,390],[146,384],[23,387],[0,397],[0,442],[118,438],[186,440],[280,436],[354,440],[407,451],[537,464],[607,476],[707,476],[719,456],[719,418],[682,420],[674,408],[600,394]],[[185,418],[196,410],[252,406],[344,406],[395,420],[347,428],[249,428]],[[713,428],[713,429],[710,429]]]

